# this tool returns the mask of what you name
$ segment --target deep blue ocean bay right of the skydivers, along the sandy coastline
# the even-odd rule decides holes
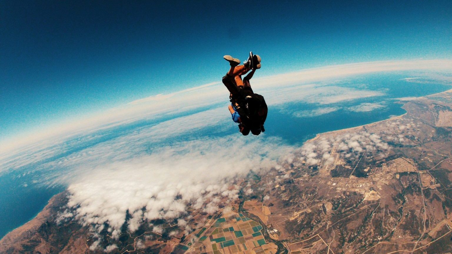
[[[451,85],[443,82],[413,83],[403,80],[404,78],[407,78],[407,76],[374,74],[356,77],[350,81],[344,80],[344,87],[383,91],[385,95],[328,105],[293,103],[290,108],[298,111],[312,111],[321,106],[337,107],[339,110],[314,117],[293,117],[293,115],[286,112],[287,110],[280,111],[278,114],[269,114],[265,124],[265,134],[280,136],[287,143],[301,145],[319,133],[366,125],[386,120],[393,115],[405,114],[406,111],[401,108],[403,104],[397,103],[399,100],[396,98],[422,97],[452,88]],[[384,107],[368,112],[348,110],[349,107],[361,103],[382,103]],[[271,112],[272,110],[270,107],[269,111]],[[278,111],[278,109],[273,111]],[[285,128],[285,126],[292,126],[292,128]]]

